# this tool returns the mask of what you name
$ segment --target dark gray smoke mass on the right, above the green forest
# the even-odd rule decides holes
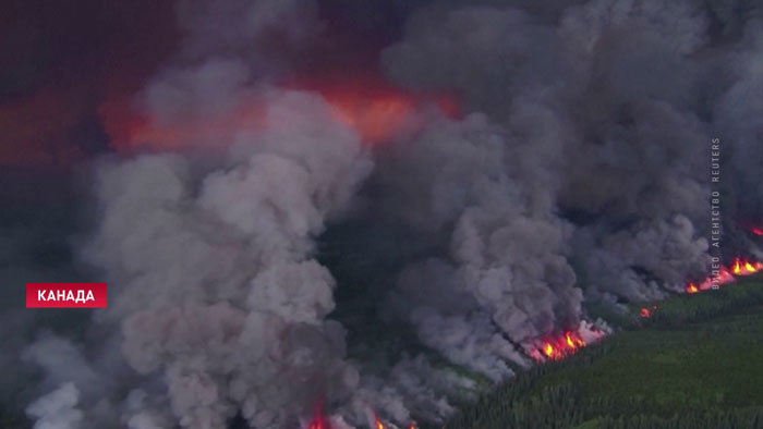
[[[756,101],[730,95],[756,94],[747,47],[755,45],[730,36],[735,26],[755,30],[752,10],[562,3],[544,13],[435,5],[383,52],[401,86],[456,91],[474,112],[431,123],[376,171],[390,216],[450,236],[438,259],[403,272],[397,301],[422,341],[488,377],[506,371],[507,339],[526,346],[579,326],[584,296],[623,309],[617,303],[665,297],[707,272],[711,138],[746,130],[728,142],[735,155],[760,143],[756,119],[729,125],[735,133],[708,119],[718,107],[754,110]],[[735,41],[743,60],[729,70],[722,62]],[[724,89],[727,71],[740,78]],[[715,114],[755,117],[726,110]],[[755,152],[742,158],[758,162]],[[751,252],[747,244],[732,247]],[[475,321],[485,312],[502,335]]]

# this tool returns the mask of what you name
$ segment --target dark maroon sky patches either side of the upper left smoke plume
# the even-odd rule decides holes
[[[341,81],[376,74],[379,50],[417,2],[308,3],[322,28],[310,49],[291,53],[289,73]],[[175,17],[172,1],[4,2],[0,166],[62,167],[108,150],[99,107],[126,102],[177,53],[184,36]]]

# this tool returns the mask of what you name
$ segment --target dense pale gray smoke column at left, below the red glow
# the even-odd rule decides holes
[[[238,407],[256,427],[281,427],[358,383],[342,328],[325,320],[334,279],[310,254],[371,160],[319,99],[274,97],[266,118],[289,127],[232,136],[221,169],[194,174],[157,155],[99,176],[88,255],[119,287],[100,316],[121,324],[137,372],[164,377],[186,427],[223,427]]]

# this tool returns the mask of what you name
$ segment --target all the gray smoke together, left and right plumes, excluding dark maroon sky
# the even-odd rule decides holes
[[[335,429],[372,427],[372,409],[441,422],[531,366],[542,339],[606,333],[585,304],[623,311],[706,272],[716,136],[728,252],[755,252],[735,230],[763,221],[751,2],[417,8],[380,73],[413,95],[451,94],[463,114],[416,108],[421,127],[376,149],[322,96],[272,84],[319,38],[319,11],[179,1],[184,42],[135,103],[165,131],[138,138],[172,137],[172,150],[96,162],[82,258],[110,306],[81,336],[23,347],[41,373],[26,406],[36,429],[217,429],[234,416],[280,429],[316,406]],[[209,126],[171,132],[189,123]],[[348,334],[364,331],[337,316],[337,290],[360,286],[318,252],[350,222],[407,233],[373,283],[384,290],[364,291],[373,323],[411,327],[416,342],[386,361],[350,352],[388,343]]]

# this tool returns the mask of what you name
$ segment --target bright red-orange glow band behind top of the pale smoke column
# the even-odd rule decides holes
[[[405,130],[423,126],[417,114],[434,106],[449,118],[457,117],[459,107],[447,95],[413,95],[395,88],[379,78],[356,82],[315,81],[293,82],[288,89],[319,94],[338,122],[358,131],[363,142],[377,144]],[[131,108],[129,97],[116,97],[102,103],[99,113],[112,145],[121,151],[134,149],[179,150],[189,142],[214,139],[227,130],[266,127],[264,106],[250,101],[216,118],[194,118],[172,123],[157,123]]]

